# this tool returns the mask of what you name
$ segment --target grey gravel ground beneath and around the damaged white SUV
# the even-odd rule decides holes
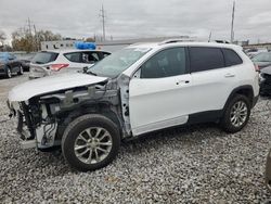
[[[271,102],[261,99],[246,128],[227,135],[215,125],[175,128],[121,146],[94,173],[72,170],[62,155],[22,150],[8,119],[11,87],[0,79],[0,203],[263,203]]]

